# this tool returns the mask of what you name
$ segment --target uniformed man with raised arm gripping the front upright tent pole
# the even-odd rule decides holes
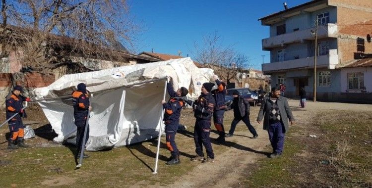
[[[165,124],[165,137],[167,141],[167,148],[169,151],[171,151],[171,157],[170,161],[168,161],[167,165],[176,165],[180,164],[180,154],[177,149],[175,136],[178,129],[178,125],[180,123],[180,115],[182,107],[185,106],[185,102],[183,99],[179,98],[182,96],[186,96],[188,94],[188,90],[184,87],[181,87],[180,89],[175,92],[173,90],[173,85],[171,82],[169,82],[168,78],[168,84],[167,84],[167,91],[168,94],[171,96],[171,98],[166,102],[165,100],[162,100],[163,108],[165,109],[164,112],[164,124]]]

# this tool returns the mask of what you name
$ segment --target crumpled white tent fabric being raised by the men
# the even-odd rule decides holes
[[[85,83],[91,97],[89,140],[86,149],[95,151],[146,141],[158,136],[166,77],[174,89],[186,87],[196,99],[201,85],[211,80],[213,70],[197,68],[187,58],[64,75],[48,87],[34,90],[36,99],[69,95]],[[169,97],[169,96],[168,96]],[[72,98],[39,101],[53,130],[55,142],[75,143]],[[164,126],[163,126],[164,127]],[[161,130],[164,131],[164,130]]]

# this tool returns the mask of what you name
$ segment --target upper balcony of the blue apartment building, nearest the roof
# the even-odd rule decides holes
[[[304,40],[314,40],[315,37],[311,34],[311,30],[315,31],[315,27],[262,39],[262,50],[284,47],[291,43],[302,43]],[[328,25],[319,25],[318,27],[318,39],[337,38],[337,34],[338,27],[336,24],[328,23]]]

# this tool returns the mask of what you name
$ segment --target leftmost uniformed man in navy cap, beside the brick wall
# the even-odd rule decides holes
[[[21,93],[23,93],[22,87],[15,86],[11,94],[8,94],[5,99],[6,119],[9,119],[16,114],[8,121],[10,131],[8,149],[28,147],[28,145],[23,142],[24,127],[21,117],[27,117],[26,112],[23,110],[22,102],[29,102],[31,99],[22,96]]]

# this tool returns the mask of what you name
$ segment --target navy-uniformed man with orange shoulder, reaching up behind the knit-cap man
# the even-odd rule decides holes
[[[217,89],[213,90],[211,93],[214,96],[216,105],[213,112],[213,123],[218,131],[219,137],[216,139],[219,143],[225,142],[225,129],[224,129],[224,113],[225,113],[225,96],[226,96],[226,84],[218,80],[217,75],[212,77],[216,84]]]

